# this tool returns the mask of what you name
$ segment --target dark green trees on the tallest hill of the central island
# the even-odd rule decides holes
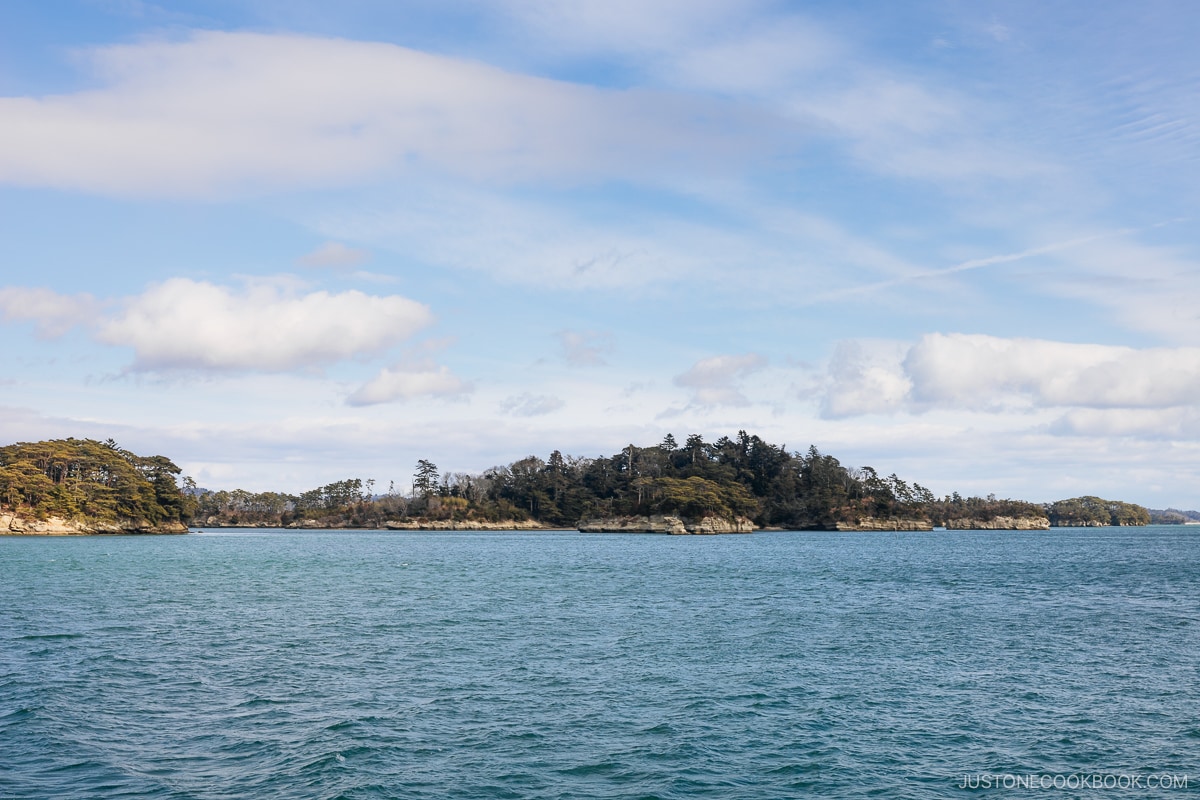
[[[920,517],[932,500],[928,489],[894,475],[878,479],[870,468],[853,474],[815,447],[790,453],[745,431],[712,444],[692,434],[682,447],[668,434],[653,447],[629,445],[590,459],[554,451],[546,461],[529,456],[493,467],[466,483],[473,491],[461,511],[466,517],[564,527],[587,517],[671,513],[830,528],[864,516]]]

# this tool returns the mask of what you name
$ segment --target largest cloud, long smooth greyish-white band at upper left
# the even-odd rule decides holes
[[[762,142],[754,120],[704,98],[386,43],[203,31],[90,55],[97,89],[0,98],[0,181],[203,196],[404,164],[472,179],[642,179],[650,164],[725,169]]]

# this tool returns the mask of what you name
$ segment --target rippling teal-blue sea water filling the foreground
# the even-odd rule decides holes
[[[1198,793],[1195,528],[0,537],[6,800]]]

